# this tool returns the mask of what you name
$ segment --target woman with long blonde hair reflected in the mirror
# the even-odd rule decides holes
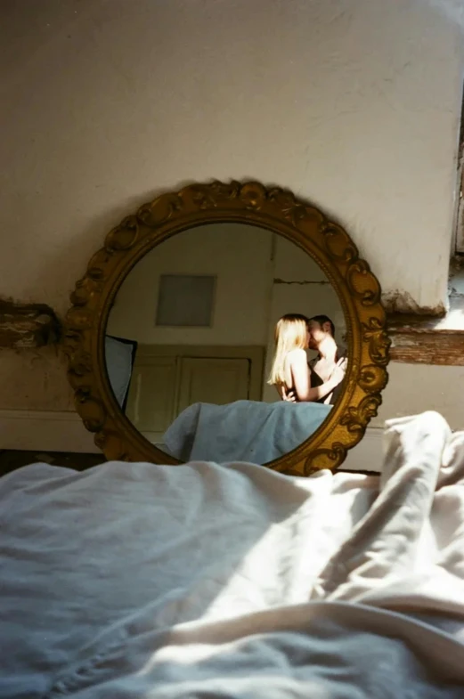
[[[305,315],[287,313],[275,326],[275,353],[268,384],[276,387],[282,401],[330,402],[330,396],[345,378],[345,368],[336,364],[327,380],[313,385],[315,377],[305,352],[312,339],[309,325]]]

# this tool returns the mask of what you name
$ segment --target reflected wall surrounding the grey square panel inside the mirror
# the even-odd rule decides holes
[[[161,274],[216,276],[211,328],[157,327]],[[134,267],[119,289],[108,332],[149,345],[263,346],[272,287],[272,233],[242,224],[201,226],[166,240]]]

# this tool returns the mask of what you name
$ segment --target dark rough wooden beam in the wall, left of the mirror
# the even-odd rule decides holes
[[[34,349],[60,338],[60,321],[44,304],[0,301],[0,348]]]

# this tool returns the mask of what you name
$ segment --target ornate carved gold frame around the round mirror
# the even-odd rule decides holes
[[[108,233],[77,281],[64,323],[63,349],[77,412],[107,459],[181,463],[145,439],[120,410],[105,368],[105,329],[118,289],[142,256],[176,233],[231,222],[293,241],[320,265],[338,293],[347,329],[345,390],[313,435],[265,464],[289,475],[335,469],[377,415],[387,385],[390,340],[379,281],[341,226],[290,191],[261,183],[191,184],[144,204]]]

